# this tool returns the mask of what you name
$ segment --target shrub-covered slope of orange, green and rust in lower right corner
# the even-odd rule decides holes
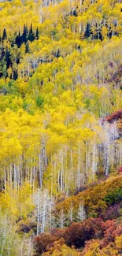
[[[121,255],[121,202],[121,175],[65,198],[55,206],[60,228],[35,237],[35,255]]]

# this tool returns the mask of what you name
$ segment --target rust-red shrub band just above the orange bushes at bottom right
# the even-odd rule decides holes
[[[54,228],[49,234],[35,237],[35,255],[41,255],[44,251],[50,250],[54,242],[61,238],[70,247],[83,247],[86,241],[91,239],[102,239],[101,247],[106,247],[121,233],[122,226],[117,224],[116,220],[102,221],[101,218],[89,218],[83,222],[73,222],[68,228]]]

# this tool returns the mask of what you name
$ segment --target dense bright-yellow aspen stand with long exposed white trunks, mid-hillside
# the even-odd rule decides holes
[[[120,165],[120,140],[109,139],[109,124],[102,127],[95,114],[87,109],[83,113],[83,107],[77,109],[74,105],[79,102],[80,92],[74,94],[72,97],[72,91],[64,92],[61,104],[57,97],[50,97],[53,106],[45,106],[46,110],[43,107],[42,113],[39,109],[35,114],[24,109],[1,113],[2,191],[7,184],[17,190],[26,180],[34,191],[39,184],[48,187],[53,195],[61,191],[70,194],[87,181],[94,181],[96,173],[105,172],[108,162],[104,163],[103,149],[107,147],[109,169]],[[51,102],[48,104],[51,106]],[[79,104],[83,104],[82,100]]]

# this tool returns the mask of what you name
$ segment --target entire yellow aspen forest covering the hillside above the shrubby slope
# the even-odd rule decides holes
[[[102,118],[122,106],[121,3],[12,1],[0,12],[1,49],[10,63],[0,80],[1,189],[28,181],[33,191],[68,195],[120,165],[121,143]],[[109,37],[115,20],[118,34]],[[26,53],[15,35],[25,24],[28,34],[31,23],[39,35]],[[98,24],[101,40],[92,32]]]

